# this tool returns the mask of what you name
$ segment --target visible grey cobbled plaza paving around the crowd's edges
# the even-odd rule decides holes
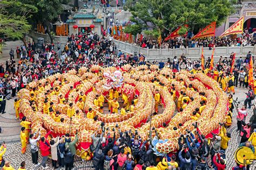
[[[15,42],[8,42],[8,47],[4,47],[2,56],[0,55],[0,63],[5,63],[6,60],[9,59],[9,50],[10,48],[15,48],[21,41],[15,41]],[[245,88],[236,88],[236,93],[234,95],[234,100],[239,97],[240,104],[238,104],[238,107],[241,108],[242,101],[245,100],[245,93],[247,92],[247,89]],[[250,117],[253,114],[253,110],[248,110],[248,116],[246,118],[246,122],[249,121]],[[234,160],[234,152],[238,148],[238,144],[240,142],[239,133],[237,130],[237,111],[234,109],[233,112],[233,123],[230,128],[227,129],[228,132],[231,133],[232,138],[229,141],[228,148],[226,150],[226,158],[227,158],[227,168],[226,169],[232,169],[232,167],[235,165]],[[2,141],[6,141],[7,143],[7,150],[4,154],[4,159],[9,160],[11,162],[11,165],[17,169],[19,167],[19,164],[22,161],[26,162],[26,168],[27,169],[39,169],[39,167],[35,167],[32,164],[31,160],[31,154],[30,154],[30,146],[28,145],[27,151],[25,154],[21,153],[21,143],[19,138],[19,133],[21,130],[20,121],[18,121],[15,117],[15,110],[14,110],[14,98],[12,98],[9,101],[6,101],[6,114],[0,114],[0,126],[2,127],[2,133],[0,133],[0,143]],[[42,161],[42,157],[39,154],[39,162]],[[48,165],[51,167],[49,169],[53,169],[51,166],[50,159],[48,160]],[[92,161],[82,161],[79,157],[76,156],[75,158],[75,169],[93,169],[92,168]],[[256,162],[254,161],[254,164],[251,165],[250,169],[256,169]]]

